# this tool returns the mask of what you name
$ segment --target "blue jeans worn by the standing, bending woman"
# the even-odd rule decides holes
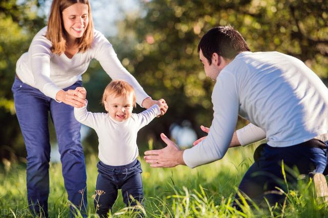
[[[64,90],[81,86],[78,81]],[[81,124],[73,107],[58,103],[20,81],[12,85],[15,110],[27,150],[27,198],[34,214],[48,216],[50,142],[48,117],[54,124],[68,200],[81,211],[87,207],[86,165],[80,142]]]

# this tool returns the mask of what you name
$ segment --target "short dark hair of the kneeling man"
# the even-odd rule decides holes
[[[198,44],[198,52],[200,49],[210,64],[213,53],[233,59],[240,52],[251,51],[245,39],[230,25],[214,27],[203,35]]]

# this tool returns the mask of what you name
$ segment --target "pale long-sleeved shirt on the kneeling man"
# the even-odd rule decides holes
[[[183,152],[189,167],[226,154],[238,114],[252,123],[248,128],[257,139],[266,137],[273,147],[296,145],[328,132],[328,89],[302,61],[279,52],[238,54],[218,75],[212,102],[208,137]],[[247,141],[241,135],[238,138]]]

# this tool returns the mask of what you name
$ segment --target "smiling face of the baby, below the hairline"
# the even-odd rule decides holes
[[[116,121],[124,121],[131,117],[133,109],[133,93],[128,96],[108,95],[106,98],[105,109],[109,116]]]

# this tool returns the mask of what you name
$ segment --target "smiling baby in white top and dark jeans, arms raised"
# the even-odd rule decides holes
[[[84,88],[76,88],[79,97],[86,99]],[[137,160],[138,147],[136,143],[138,130],[156,116],[167,104],[160,99],[140,114],[133,114],[136,106],[135,93],[132,86],[121,80],[110,82],[103,95],[103,104],[108,113],[91,113],[87,104],[74,108],[77,121],[93,128],[99,140],[98,177],[95,193],[96,212],[100,217],[107,217],[116,198],[117,190],[121,189],[123,201],[127,206],[142,202],[141,166]]]

